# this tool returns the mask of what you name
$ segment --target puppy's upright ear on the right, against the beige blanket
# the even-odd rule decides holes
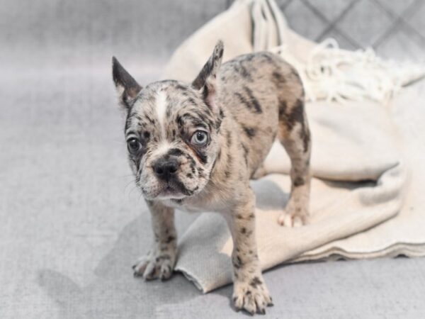
[[[217,92],[216,79],[217,72],[222,62],[224,46],[222,40],[219,40],[214,47],[210,59],[200,70],[198,77],[192,82],[192,87],[201,92],[203,99],[210,106],[215,108],[214,98]]]

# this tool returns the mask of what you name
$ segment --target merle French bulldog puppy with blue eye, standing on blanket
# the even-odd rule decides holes
[[[256,52],[221,65],[223,44],[192,83],[142,88],[113,57],[113,81],[125,108],[125,139],[135,181],[152,215],[151,250],[133,267],[145,279],[168,279],[177,257],[174,209],[216,211],[232,233],[234,306],[251,314],[272,305],[256,249],[255,196],[249,180],[277,137],[291,160],[291,195],[278,223],[307,222],[310,130],[295,69]]]

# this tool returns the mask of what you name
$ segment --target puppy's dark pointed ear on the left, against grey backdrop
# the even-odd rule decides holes
[[[133,79],[115,57],[112,57],[112,77],[120,103],[126,109],[130,108],[142,86]]]

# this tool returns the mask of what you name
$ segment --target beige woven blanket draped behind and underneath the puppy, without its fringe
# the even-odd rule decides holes
[[[274,23],[257,19],[253,29],[258,7],[237,1],[176,50],[164,77],[193,79],[219,38],[225,43],[225,60],[284,41],[285,55],[295,57],[293,62],[302,66],[314,44],[282,24],[273,1],[268,5]],[[402,80],[409,82],[412,74]],[[311,87],[314,96],[317,86]],[[319,96],[321,88],[318,101],[307,103],[313,140],[311,223],[302,228],[283,228],[277,223],[288,200],[290,162],[276,144],[266,159],[266,169],[280,174],[252,182],[263,269],[302,260],[425,255],[422,91],[423,85],[416,84],[383,105],[325,101]],[[176,270],[201,291],[232,280],[232,240],[219,215],[203,213],[180,238]]]

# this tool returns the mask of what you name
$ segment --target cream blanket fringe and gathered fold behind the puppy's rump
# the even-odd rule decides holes
[[[317,44],[307,61],[300,61],[284,43],[287,24],[274,0],[254,1],[251,14],[256,35],[254,50],[275,52],[293,65],[305,86],[307,101],[369,99],[387,103],[402,86],[425,75],[424,65],[382,60],[371,48],[343,50],[333,38]],[[276,29],[279,45],[271,46],[270,35],[276,35]]]

